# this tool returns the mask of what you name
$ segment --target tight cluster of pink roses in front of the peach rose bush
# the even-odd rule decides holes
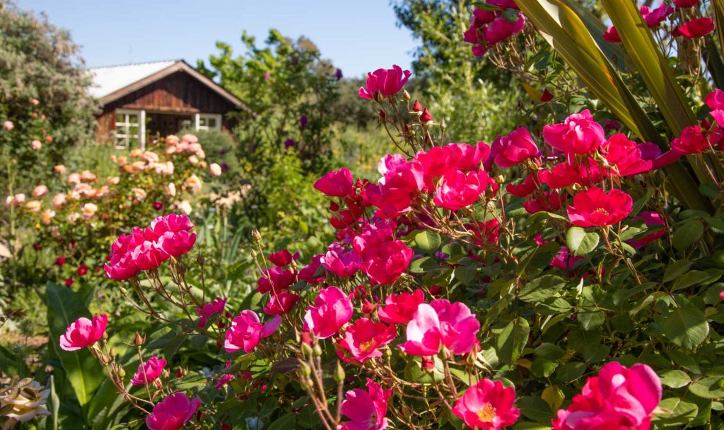
[[[196,233],[188,216],[169,214],[153,219],[151,227],[134,227],[111,245],[106,277],[123,280],[140,271],[158,269],[169,258],[179,258],[193,248]]]

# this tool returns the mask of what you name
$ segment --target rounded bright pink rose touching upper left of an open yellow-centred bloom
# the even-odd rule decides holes
[[[304,315],[303,329],[320,339],[327,339],[350,321],[352,312],[352,302],[342,290],[337,287],[323,288]]]

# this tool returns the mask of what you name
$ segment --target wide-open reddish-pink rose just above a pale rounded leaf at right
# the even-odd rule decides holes
[[[631,214],[633,199],[621,190],[605,193],[591,187],[573,196],[573,205],[565,210],[568,219],[578,227],[613,225]]]

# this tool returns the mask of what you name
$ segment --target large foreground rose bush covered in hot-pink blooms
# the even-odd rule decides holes
[[[608,43],[604,32],[613,30],[576,33],[563,49],[568,30],[587,30],[567,4],[551,1],[559,21],[537,1],[481,4],[473,52],[501,54],[523,33],[542,47],[526,59],[560,54],[575,69],[592,58],[570,51],[586,49],[588,34],[594,50],[586,53],[609,64],[594,40]],[[699,9],[603,4],[633,63],[637,43],[664,55],[647,28],[665,23],[670,41],[706,19],[691,16]],[[557,53],[542,45],[551,40]],[[526,61],[506,64],[531,88],[550,76],[529,72]],[[684,65],[683,77],[716,82],[716,70]],[[212,293],[219,289],[205,274],[213,262],[185,215],[125,226],[106,274],[153,322],[133,334],[124,319],[106,325],[98,315],[94,324],[80,308],[77,320],[51,326],[64,366],[98,361],[80,373],[103,382],[75,384],[79,403],[116,411],[114,423],[167,430],[724,425],[721,93],[702,84],[685,98],[668,88],[691,112],[682,127],[672,105],[656,100],[659,81],[612,70],[601,82],[576,69],[589,98],[564,98],[586,91],[578,86],[534,98],[547,111],[492,146],[448,142],[435,112],[403,89],[407,72],[372,72],[359,94],[379,109],[399,152],[379,161],[379,177],[339,169],[314,183],[335,230],[315,255],[269,249],[254,232],[254,294]],[[614,86],[629,102],[619,104],[602,90],[610,76],[650,85],[654,101],[641,102],[657,109],[644,111]],[[647,111],[663,119],[652,122]],[[61,291],[50,285],[46,296]],[[123,404],[133,409],[118,413]]]

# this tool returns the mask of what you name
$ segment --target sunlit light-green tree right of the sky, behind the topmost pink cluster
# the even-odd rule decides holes
[[[486,59],[475,59],[463,33],[471,13],[465,1],[397,0],[399,25],[420,41],[414,51],[417,87],[435,120],[453,140],[492,140],[509,130],[518,112],[513,77]]]

